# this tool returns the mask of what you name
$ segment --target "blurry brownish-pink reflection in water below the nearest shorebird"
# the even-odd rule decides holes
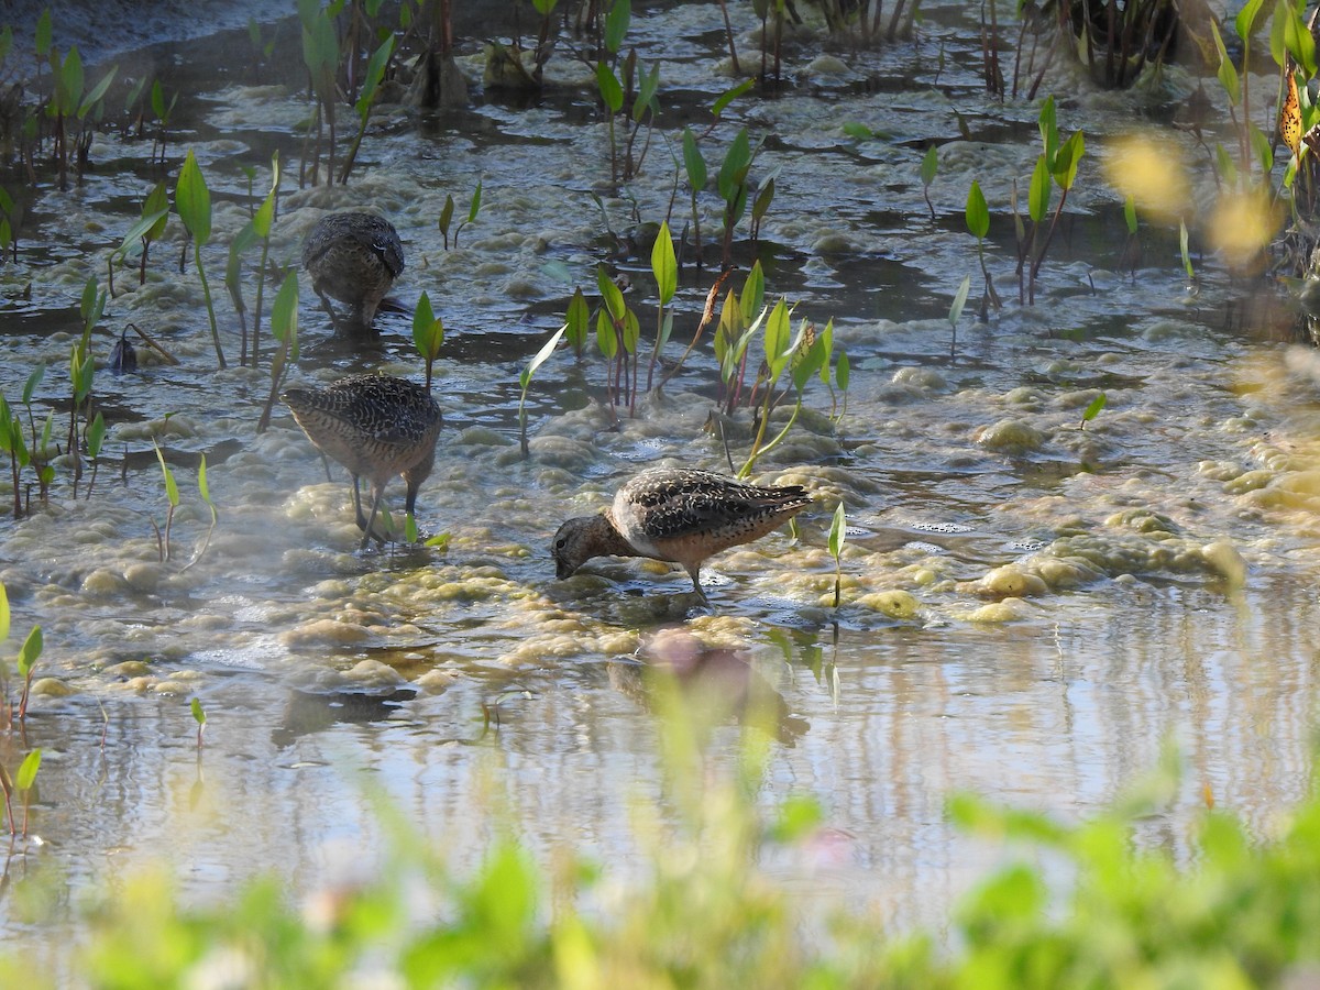
[[[668,628],[639,657],[642,663],[610,664],[610,684],[647,709],[681,711],[702,734],[737,719],[792,744],[810,727],[743,649],[711,647],[684,628]]]

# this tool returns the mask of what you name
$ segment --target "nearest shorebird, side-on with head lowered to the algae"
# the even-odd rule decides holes
[[[554,533],[556,576],[566,578],[591,557],[651,557],[681,564],[701,601],[701,564],[751,543],[810,504],[797,484],[758,487],[710,471],[652,467],[631,478],[595,516],[570,519]]]

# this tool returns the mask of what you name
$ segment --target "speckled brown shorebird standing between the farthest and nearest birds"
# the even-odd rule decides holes
[[[352,475],[352,508],[363,529],[362,549],[396,474],[408,483],[408,512],[436,463],[440,407],[421,385],[389,375],[350,375],[326,388],[290,388],[280,396],[308,440]],[[358,479],[371,482],[371,515],[362,513]]]

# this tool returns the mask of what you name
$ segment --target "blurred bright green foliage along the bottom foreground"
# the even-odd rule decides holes
[[[1245,987],[1313,975],[1320,961],[1317,797],[1257,842],[1206,795],[1183,862],[1134,838],[1177,792],[1172,758],[1078,825],[956,796],[960,826],[1008,842],[1015,858],[964,899],[940,950],[925,935],[886,937],[857,909],[822,912],[821,899],[804,902],[760,869],[775,850],[808,863],[830,838],[809,797],[756,812],[764,743],[737,779],[715,780],[693,772],[694,735],[671,737],[671,766],[688,771],[673,774],[668,817],[639,812],[648,851],[630,886],[578,854],[546,870],[507,833],[458,875],[381,801],[393,851],[376,879],[292,903],[268,876],[232,903],[185,907],[170,876],[143,873],[84,909],[86,937],[62,977],[102,987]],[[34,902],[32,883],[11,907]],[[0,979],[18,975],[55,982],[11,944]]]

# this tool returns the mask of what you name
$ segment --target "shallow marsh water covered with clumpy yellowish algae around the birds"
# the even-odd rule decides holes
[[[635,218],[664,215],[675,181],[665,141],[677,150],[681,124],[704,125],[705,107],[733,82],[718,5],[634,20],[642,58],[664,59],[665,112],[626,195],[609,186],[603,125],[566,53],[527,108],[477,87],[474,106],[451,115],[381,107],[347,186],[296,190],[294,127],[309,112],[298,79],[275,65],[234,67],[226,53],[247,51],[243,34],[170,58],[153,50],[154,63],[181,66],[186,94],[172,166],[193,148],[216,198],[205,261],[231,360],[236,326],[220,279],[252,203],[240,166],[256,168],[260,197],[269,153],[281,152],[277,261],[297,256],[326,209],[371,206],[399,227],[409,268],[395,294],[411,310],[425,290],[447,327],[437,364],[446,428],[418,524],[451,543],[356,553],[342,471],[326,480],[282,409],[255,434],[265,362],[215,370],[191,263],[177,275],[173,218],[145,286],[129,268],[116,272],[123,294],[95,339],[104,359],[133,322],[181,364],[139,347],[136,375],[99,367],[111,430],[92,496],[74,499],[61,467],[51,504],[0,531],[12,649],[40,623],[38,675],[50,678],[24,734],[0,739],[9,767],[29,747],[45,754],[33,809],[44,845],[21,849],[8,870],[59,878],[42,927],[7,909],[5,935],[40,941],[70,923],[84,891],[162,854],[185,892],[203,899],[259,870],[285,873],[296,892],[370,871],[363,850],[379,829],[359,770],[459,863],[491,834],[494,787],[537,850],[568,842],[626,871],[638,845],[630,808],[664,792],[642,672],[676,656],[697,657],[694,706],[711,694],[731,705],[743,693],[781,700],[759,800],[816,795],[840,841],[828,855],[770,867],[870,906],[895,928],[942,927],[999,855],[944,820],[953,789],[1077,818],[1154,766],[1172,738],[1187,774],[1147,838],[1185,849],[1206,791],[1267,833],[1311,768],[1313,358],[1280,342],[1290,317],[1269,296],[1243,298],[1213,257],[1188,292],[1176,232],[1147,226],[1144,267],[1118,271],[1122,206],[1097,160],[1134,117],[1168,119],[1172,98],[1159,95],[1082,91],[1063,103],[1061,128],[1088,136],[1074,216],[1041,269],[1038,305],[1016,304],[1006,205],[1010,180],[1024,186],[1035,160],[1036,107],[983,95],[964,7],[925,4],[917,44],[838,50],[838,65],[818,59],[822,42],[805,33],[789,49],[795,83],[734,103],[709,139],[713,173],[734,125],[764,140],[752,176],[774,172],[777,190],[758,248],[767,297],[785,294],[818,323],[833,318],[836,347],[853,362],[837,425],[813,385],[813,414],[758,465],[759,478],[817,494],[800,539],[779,532],[718,557],[708,570],[714,615],[696,607],[681,572],[598,560],[556,582],[548,556],[558,521],[602,507],[639,465],[726,466],[702,429],[717,391],[709,350],[618,422],[602,404],[601,358],[561,351],[531,388],[527,462],[516,407],[519,371],[576,285],[594,298],[601,261],[630,275],[649,341],[649,242]],[[754,24],[735,13],[747,57]],[[479,78],[474,46],[461,65]],[[953,110],[973,140],[950,140]],[[847,121],[887,136],[858,141]],[[1188,137],[1168,140],[1193,156]],[[941,145],[935,220],[917,178],[931,141]],[[46,186],[30,206],[20,260],[0,267],[9,355],[0,393],[11,403],[45,360],[38,407],[66,408],[82,285],[104,276],[158,178],[149,144],[99,140],[82,189]],[[977,272],[962,220],[972,178],[995,213],[989,264],[1006,306],[979,323],[969,304],[950,360],[948,308]],[[445,197],[466,215],[478,180],[480,214],[446,251],[436,226]],[[676,228],[684,199],[680,189]],[[713,191],[701,207],[714,257]],[[742,242],[735,257],[746,264]],[[671,359],[710,279],[709,268],[684,271]],[[368,368],[420,378],[409,317],[387,313],[379,326],[378,350],[347,352],[305,286],[294,380]],[[1101,392],[1106,408],[1081,429]],[[165,564],[153,436],[183,495]],[[220,523],[185,569],[207,521],[202,453]],[[387,496],[395,510],[400,490]],[[836,610],[826,535],[841,498],[850,529]],[[916,614],[892,618],[891,591],[911,594]],[[191,697],[209,715],[201,755]],[[709,742],[714,766],[739,750],[737,715],[725,722]]]

